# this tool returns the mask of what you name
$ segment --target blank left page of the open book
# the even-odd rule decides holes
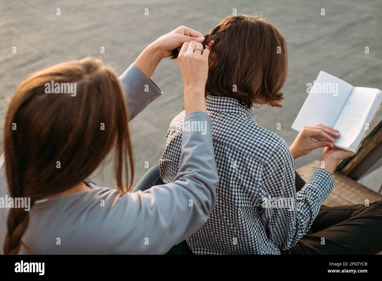
[[[299,132],[303,126],[319,123],[333,127],[352,90],[352,85],[320,71],[292,129]]]

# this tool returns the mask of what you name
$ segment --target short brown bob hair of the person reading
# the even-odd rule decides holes
[[[274,24],[262,16],[227,16],[205,37],[203,45],[213,42],[207,95],[231,97],[248,108],[259,98],[282,107],[288,54]]]

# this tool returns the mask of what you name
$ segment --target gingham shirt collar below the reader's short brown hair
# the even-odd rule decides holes
[[[252,110],[240,104],[237,99],[233,99],[231,97],[216,97],[207,95],[206,106],[207,110],[210,111],[240,113],[245,115],[248,119],[255,121]]]

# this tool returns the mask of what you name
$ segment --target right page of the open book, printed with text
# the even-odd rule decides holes
[[[369,114],[370,108],[377,95],[376,91],[369,91],[366,89],[355,87],[351,92],[348,101],[346,101],[337,121],[333,128],[338,130],[340,136],[334,142],[334,145],[349,148],[353,141],[358,137],[361,130],[366,130],[364,126],[366,117]]]

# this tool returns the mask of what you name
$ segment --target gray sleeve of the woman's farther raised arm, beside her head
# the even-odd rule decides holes
[[[162,89],[132,63],[118,78],[128,107],[129,121],[133,120],[143,109],[163,94]]]

